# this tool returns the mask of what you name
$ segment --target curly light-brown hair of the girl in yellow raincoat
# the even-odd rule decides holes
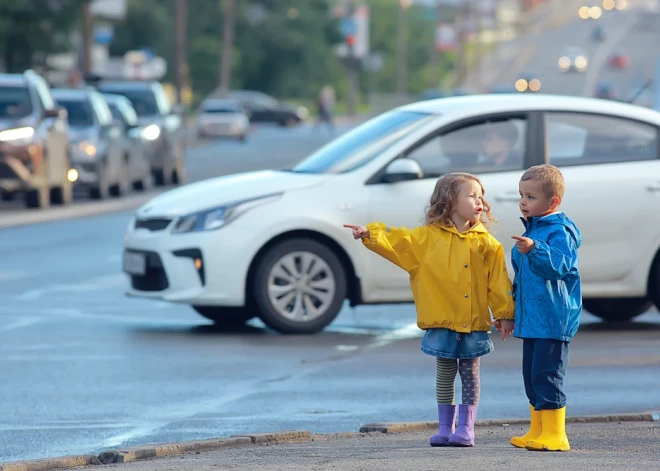
[[[481,180],[472,175],[471,173],[447,173],[440,177],[435,184],[435,189],[431,195],[429,206],[426,208],[426,224],[441,223],[445,226],[453,226],[451,214],[456,209],[456,198],[460,192],[461,185],[467,181],[475,181],[481,187],[482,195],[486,194]],[[490,203],[485,198],[482,199],[484,211],[481,216],[481,222],[486,228],[490,227],[491,223],[497,220],[490,213]],[[486,216],[484,218],[484,216]]]

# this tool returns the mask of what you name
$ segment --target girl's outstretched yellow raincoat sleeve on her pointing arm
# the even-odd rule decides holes
[[[406,229],[374,222],[366,227],[369,238],[362,239],[364,246],[408,273],[417,268],[431,242],[425,226]]]

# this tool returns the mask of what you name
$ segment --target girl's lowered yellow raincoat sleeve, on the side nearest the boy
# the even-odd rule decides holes
[[[493,317],[499,319],[515,318],[515,305],[511,280],[506,269],[504,249],[495,238],[491,239],[492,249],[486,252],[488,264],[488,307],[493,311]]]

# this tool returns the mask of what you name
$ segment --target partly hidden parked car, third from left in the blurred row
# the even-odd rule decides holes
[[[119,125],[123,136],[124,155],[129,163],[130,180],[134,190],[144,191],[152,186],[149,162],[149,141],[143,136],[137,113],[131,102],[122,95],[104,94],[112,117]]]

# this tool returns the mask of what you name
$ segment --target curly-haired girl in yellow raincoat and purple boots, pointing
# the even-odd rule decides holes
[[[422,351],[436,357],[438,433],[431,446],[473,446],[479,403],[479,358],[493,351],[493,321],[506,339],[513,331],[514,302],[504,251],[485,225],[493,220],[481,181],[468,173],[440,178],[414,229],[383,223],[346,224],[365,247],[403,268],[425,330]],[[483,220],[483,216],[486,216]],[[455,427],[454,381],[460,374],[462,404]]]

